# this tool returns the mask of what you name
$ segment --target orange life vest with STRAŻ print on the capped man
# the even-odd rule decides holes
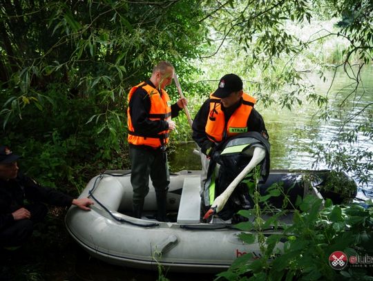
[[[221,142],[222,139],[247,132],[247,120],[256,99],[243,93],[242,104],[234,111],[225,124],[224,112],[222,111],[220,99],[210,96],[210,111],[205,131],[212,142]]]

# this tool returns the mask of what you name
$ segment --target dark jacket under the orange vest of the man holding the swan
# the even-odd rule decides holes
[[[234,111],[241,105],[241,101],[238,102],[235,106],[231,106],[231,108],[223,108],[222,111],[224,112],[225,124],[229,121],[229,118],[234,113]],[[211,140],[207,137],[205,128],[207,124],[207,118],[209,118],[210,112],[210,99],[204,101],[200,110],[198,111],[197,115],[195,115],[195,119],[193,121],[193,140],[200,146],[202,153],[206,154],[206,151],[215,146]],[[258,132],[264,137],[268,139],[268,133],[265,128],[265,122],[263,121],[262,115],[252,108],[249,119],[247,119],[247,130]],[[222,140],[224,142],[224,139]]]

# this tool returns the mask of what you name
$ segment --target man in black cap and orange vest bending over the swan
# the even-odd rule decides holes
[[[254,109],[256,99],[243,92],[243,83],[235,74],[224,75],[218,89],[204,101],[193,121],[193,139],[200,146],[201,186],[207,180],[209,159],[216,146],[239,133],[256,131],[268,139],[262,116]]]

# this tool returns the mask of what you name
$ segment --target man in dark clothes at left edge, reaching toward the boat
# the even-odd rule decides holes
[[[39,186],[30,177],[18,173],[18,158],[8,147],[0,146],[0,246],[23,244],[32,234],[34,224],[46,216],[44,203],[55,206],[73,204],[86,211],[93,204],[88,198],[74,199]]]

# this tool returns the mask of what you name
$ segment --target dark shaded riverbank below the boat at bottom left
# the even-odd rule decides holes
[[[211,281],[213,274],[132,269],[91,258],[70,238],[64,224],[66,211],[51,209],[48,220],[39,224],[29,243],[16,250],[0,251],[1,281]]]

